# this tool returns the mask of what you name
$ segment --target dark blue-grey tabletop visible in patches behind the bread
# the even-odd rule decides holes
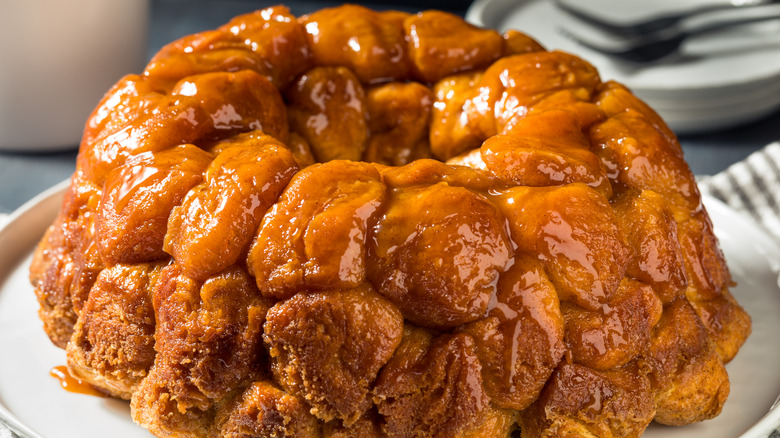
[[[149,25],[149,57],[169,41],[212,29],[240,13],[278,2],[250,0],[152,0]],[[295,15],[339,4],[335,1],[285,1]],[[465,0],[403,0],[364,3],[376,9],[416,11],[426,8],[464,15]],[[780,140],[780,111],[738,128],[680,137],[693,172],[712,175],[762,146]],[[10,213],[46,188],[70,177],[75,167],[77,145],[56,153],[0,152],[0,214]]]

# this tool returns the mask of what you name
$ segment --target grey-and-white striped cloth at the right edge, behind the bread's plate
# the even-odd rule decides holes
[[[699,189],[752,217],[780,242],[780,141],[699,178]]]

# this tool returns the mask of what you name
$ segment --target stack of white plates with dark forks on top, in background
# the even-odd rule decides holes
[[[576,0],[572,7],[615,23],[724,0]],[[780,5],[745,8],[738,14],[777,13]],[[734,11],[695,17],[695,28]],[[589,50],[566,36],[594,43],[617,39],[582,23],[552,0],[477,0],[466,15],[484,27],[520,30],[547,49],[575,53],[598,68],[604,81],[616,80],[652,106],[678,134],[715,131],[744,124],[780,108],[780,20],[733,27],[690,38],[679,55],[651,64],[620,61]]]

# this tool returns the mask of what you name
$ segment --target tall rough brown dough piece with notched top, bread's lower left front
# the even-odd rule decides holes
[[[198,282],[176,264],[160,273],[153,303],[157,354],[133,418],[160,436],[207,436],[218,402],[263,375],[270,306],[241,268]]]

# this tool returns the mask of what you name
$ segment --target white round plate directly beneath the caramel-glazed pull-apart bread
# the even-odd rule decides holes
[[[27,269],[65,187],[25,204],[0,228],[0,417],[32,438],[148,437],[126,402],[69,393],[49,377],[65,353],[43,333]],[[780,249],[738,213],[712,198],[705,204],[739,283],[733,293],[753,317],[753,334],[727,365],[731,395],[718,418],[679,428],[651,425],[644,436],[765,438],[780,424],[780,408],[772,408],[780,394]]]

